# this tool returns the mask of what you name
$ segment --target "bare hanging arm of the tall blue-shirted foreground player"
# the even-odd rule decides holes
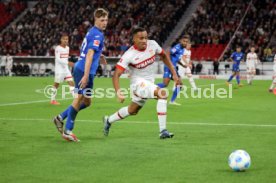
[[[94,56],[94,50],[89,49],[86,54],[86,58],[85,58],[84,75],[83,75],[81,81],[79,82],[80,88],[85,88],[88,83],[90,68],[91,68],[91,65],[93,62],[93,56]]]

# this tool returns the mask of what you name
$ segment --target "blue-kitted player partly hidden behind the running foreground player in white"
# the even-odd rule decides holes
[[[179,43],[176,44],[174,47],[172,47],[170,50],[171,62],[173,64],[176,72],[178,70],[176,67],[177,63],[180,64],[182,67],[186,67],[180,62],[180,60],[184,54],[185,47],[186,47],[187,43],[189,43],[189,36],[185,35],[180,39]],[[178,74],[178,72],[177,72],[177,74]],[[171,73],[170,69],[165,65],[164,66],[163,83],[158,83],[157,86],[159,86],[160,88],[165,88],[169,85],[171,79],[172,79],[172,73]],[[181,83],[181,85],[182,85],[182,83]],[[175,99],[180,91],[180,88],[181,88],[181,86],[176,86],[174,88],[172,98],[169,102],[170,104],[180,105],[179,103],[175,102]]]

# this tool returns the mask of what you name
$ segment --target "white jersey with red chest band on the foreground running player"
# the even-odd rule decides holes
[[[161,54],[163,49],[154,40],[148,40],[147,48],[144,51],[137,50],[131,46],[122,56],[116,67],[130,71],[131,84],[136,83],[139,79],[145,79],[154,82],[154,65],[155,55]]]

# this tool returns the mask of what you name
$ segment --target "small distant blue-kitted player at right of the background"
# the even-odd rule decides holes
[[[230,60],[233,62],[233,73],[226,82],[227,85],[230,84],[231,80],[236,76],[236,80],[239,86],[242,86],[240,83],[240,63],[243,61],[244,54],[241,52],[241,47],[237,46],[236,52],[232,53]]]

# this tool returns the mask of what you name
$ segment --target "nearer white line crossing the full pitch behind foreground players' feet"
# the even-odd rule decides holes
[[[52,119],[23,119],[23,118],[0,118],[0,121],[49,121],[51,122]],[[81,122],[89,122],[89,123],[102,123],[102,121],[99,120],[77,120]],[[150,122],[150,121],[127,121],[123,120],[120,121],[120,123],[127,123],[127,124],[158,124],[157,122]],[[181,121],[174,121],[174,122],[168,122],[169,125],[190,125],[190,126],[241,126],[241,127],[274,127],[276,128],[276,124],[231,124],[231,123],[195,123],[195,122],[181,122]]]

